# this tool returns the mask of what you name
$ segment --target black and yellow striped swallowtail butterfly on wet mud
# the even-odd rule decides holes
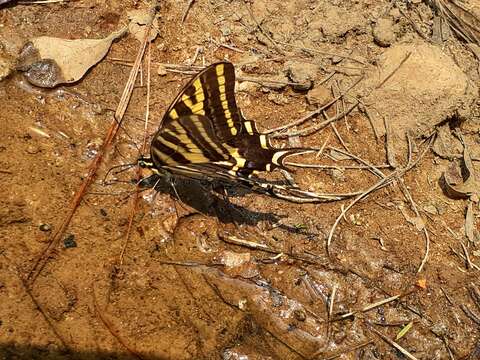
[[[276,149],[267,134],[246,120],[235,99],[235,69],[212,64],[194,76],[168,107],[138,165],[157,174],[220,180],[294,202],[324,201],[319,194],[258,178],[261,172],[288,170],[285,160],[309,148]]]

